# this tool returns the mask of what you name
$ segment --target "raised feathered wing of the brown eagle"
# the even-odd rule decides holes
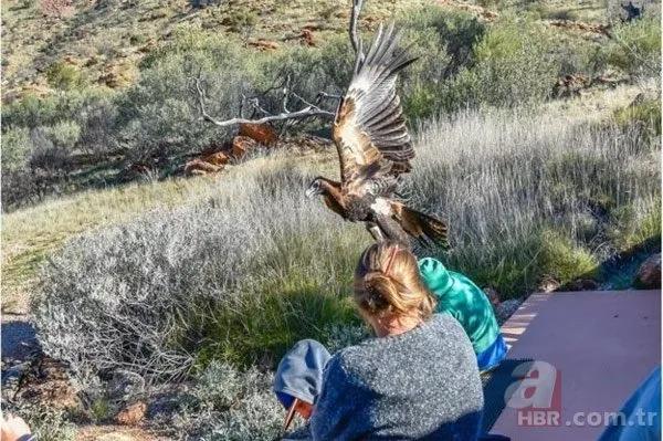
[[[394,182],[411,169],[414,149],[396,94],[396,80],[398,72],[417,59],[408,56],[407,49],[399,49],[399,40],[392,25],[387,30],[380,25],[336,111],[333,137],[346,191],[370,191],[368,181],[380,186],[380,178],[389,177]]]

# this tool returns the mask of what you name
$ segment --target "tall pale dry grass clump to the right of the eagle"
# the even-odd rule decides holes
[[[460,116],[422,130],[412,193],[451,225],[452,267],[522,295],[544,275],[591,275],[633,241],[611,232],[621,222],[660,234],[646,227],[660,203],[659,148],[614,125]]]

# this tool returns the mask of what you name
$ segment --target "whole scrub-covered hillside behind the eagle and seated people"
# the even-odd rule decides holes
[[[40,439],[274,439],[283,353],[367,335],[348,294],[370,237],[304,198],[338,174],[329,120],[217,127],[196,90],[217,119],[334,112],[349,0],[220,3],[2,3],[3,337],[39,344],[3,354],[2,402]],[[419,57],[403,195],[453,251],[417,252],[501,319],[633,286],[660,252],[660,2],[623,23],[593,0],[365,3],[365,39],[393,20]],[[141,428],[113,426],[134,403]]]

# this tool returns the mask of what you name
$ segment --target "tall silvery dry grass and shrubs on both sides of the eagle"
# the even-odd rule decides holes
[[[624,243],[660,234],[660,145],[643,139],[547,112],[440,118],[418,133],[406,192],[451,227],[445,264],[520,296],[545,276],[599,277]],[[54,254],[34,303],[44,348],[81,372],[117,366],[158,379],[214,359],[273,368],[297,339],[357,326],[348,294],[368,233],[303,198],[315,174],[298,159],[232,171],[181,195],[165,183],[170,200],[196,197]]]

